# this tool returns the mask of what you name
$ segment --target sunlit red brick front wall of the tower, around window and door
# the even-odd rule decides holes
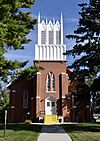
[[[38,96],[40,97],[38,99],[39,102],[39,111],[45,111],[45,98],[49,96],[56,97],[56,103],[57,103],[57,114],[62,115],[65,117],[67,110],[67,103],[64,107],[64,110],[62,110],[62,97],[65,98],[68,95],[68,75],[66,74],[66,62],[35,62],[35,65],[40,66],[43,68],[43,70],[40,71],[40,74],[37,74],[37,85],[38,89],[41,89],[41,91],[37,90]],[[55,76],[55,84],[56,84],[56,91],[55,92],[46,92],[46,76],[47,74],[52,71]],[[39,80],[39,82],[38,82]],[[70,101],[71,102],[71,101]],[[38,108],[37,108],[38,109]],[[37,115],[38,112],[37,111]],[[70,117],[69,117],[70,118]]]

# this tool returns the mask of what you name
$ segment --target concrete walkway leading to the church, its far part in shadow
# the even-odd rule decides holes
[[[38,141],[72,141],[59,125],[44,125]]]

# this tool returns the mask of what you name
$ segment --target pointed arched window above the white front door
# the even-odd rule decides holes
[[[46,91],[55,91],[55,77],[52,72],[49,72],[46,77]]]

